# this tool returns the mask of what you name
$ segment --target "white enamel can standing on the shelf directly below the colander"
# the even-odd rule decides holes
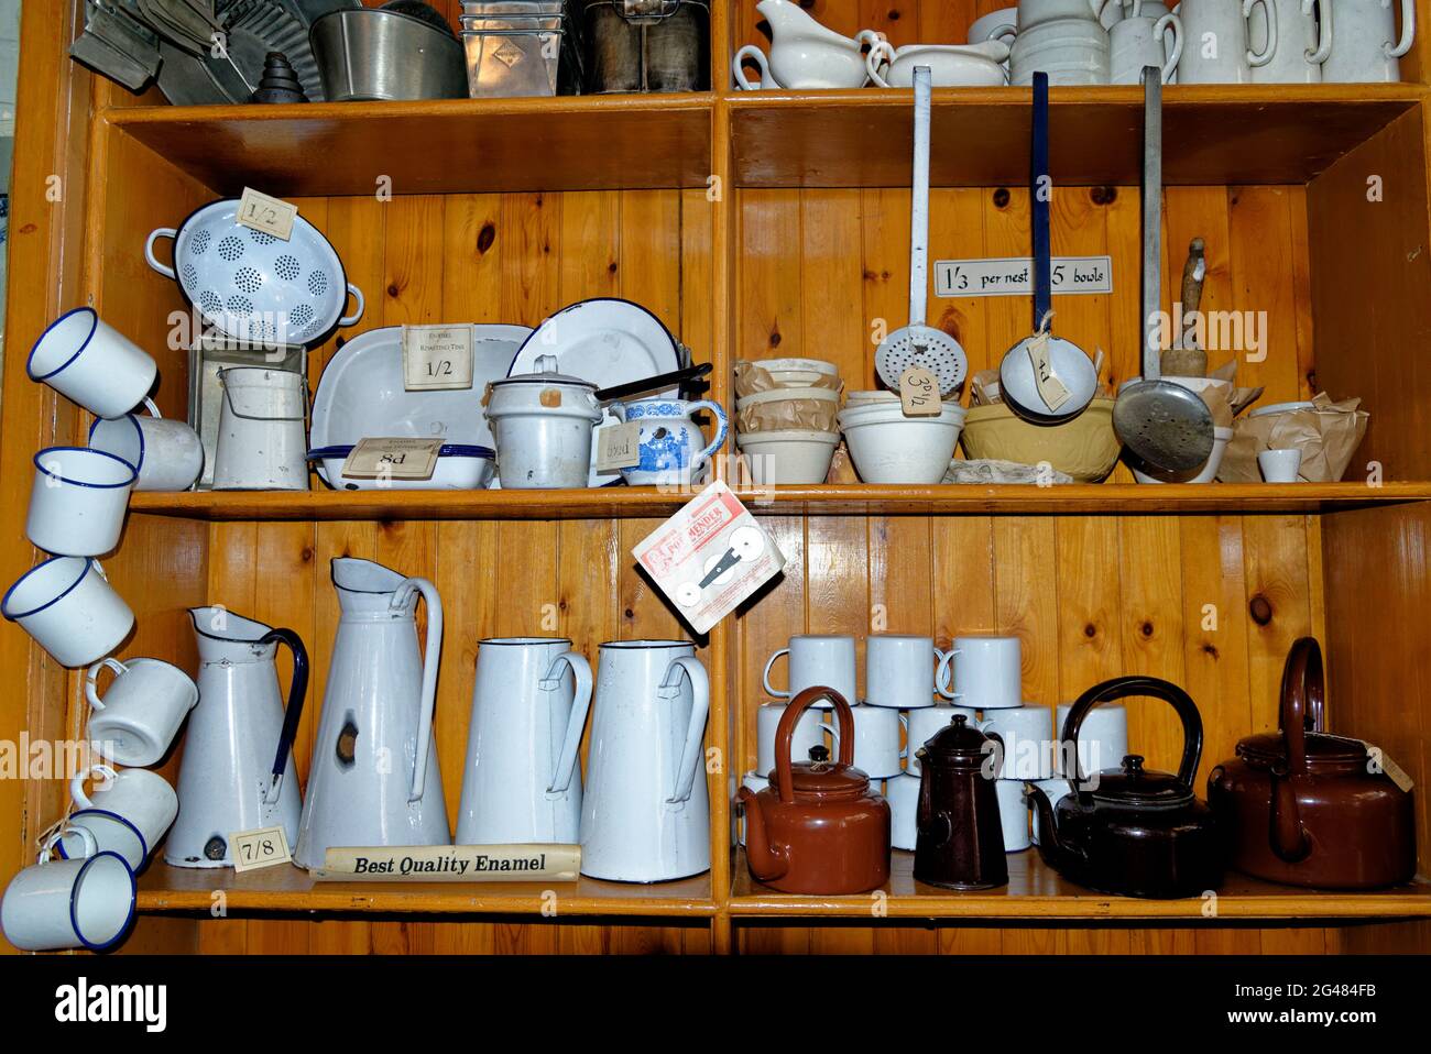
[[[262,366],[219,370],[215,491],[306,491],[306,382],[301,373]]]

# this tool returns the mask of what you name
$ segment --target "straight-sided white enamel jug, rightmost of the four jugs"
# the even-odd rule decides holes
[[[601,645],[581,874],[664,882],[710,870],[701,738],[710,681],[685,641]]]

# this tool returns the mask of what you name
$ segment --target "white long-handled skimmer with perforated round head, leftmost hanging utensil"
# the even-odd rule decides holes
[[[929,283],[929,99],[930,72],[914,67],[914,179],[909,223],[909,325],[880,340],[874,369],[889,388],[899,389],[910,366],[923,366],[949,395],[969,373],[969,358],[954,338],[924,325]]]

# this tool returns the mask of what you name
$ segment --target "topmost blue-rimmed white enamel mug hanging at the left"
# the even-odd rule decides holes
[[[96,418],[122,418],[149,395],[159,366],[93,307],[76,307],[34,342],[26,372]]]

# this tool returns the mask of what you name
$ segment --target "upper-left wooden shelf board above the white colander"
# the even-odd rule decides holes
[[[220,194],[704,187],[710,94],[136,106],[112,126]]]

